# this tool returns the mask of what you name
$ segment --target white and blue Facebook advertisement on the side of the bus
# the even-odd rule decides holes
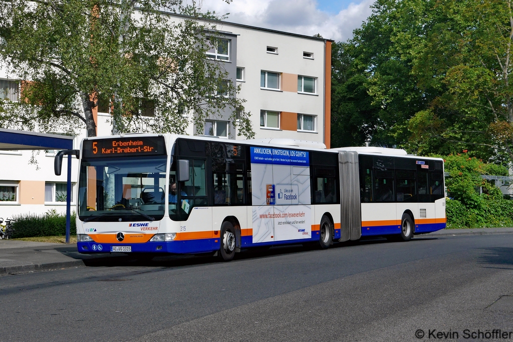
[[[306,151],[251,147],[253,243],[311,238]]]

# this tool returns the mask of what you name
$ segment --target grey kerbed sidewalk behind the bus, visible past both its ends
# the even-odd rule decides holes
[[[489,234],[513,234],[513,228],[443,229],[429,234],[416,235],[416,237]],[[109,261],[115,261],[113,258],[126,257],[124,253],[80,254],[76,249],[76,244],[64,245],[0,240],[0,276],[81,267],[92,263],[98,266],[107,265]]]

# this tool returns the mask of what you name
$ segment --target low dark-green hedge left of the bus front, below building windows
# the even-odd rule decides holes
[[[66,235],[66,215],[50,210],[43,215],[21,214],[14,217],[12,238]],[[71,235],[76,235],[75,213],[71,214]]]

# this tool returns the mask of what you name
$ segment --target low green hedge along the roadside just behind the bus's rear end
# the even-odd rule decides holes
[[[482,199],[475,208],[447,199],[447,228],[513,227],[513,200]]]

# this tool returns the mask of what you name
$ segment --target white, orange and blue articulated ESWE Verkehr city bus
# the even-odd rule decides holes
[[[445,228],[443,160],[384,148],[171,134],[86,138],[81,253],[212,253]],[[62,158],[62,155],[60,156]],[[61,160],[62,161],[62,160]]]

